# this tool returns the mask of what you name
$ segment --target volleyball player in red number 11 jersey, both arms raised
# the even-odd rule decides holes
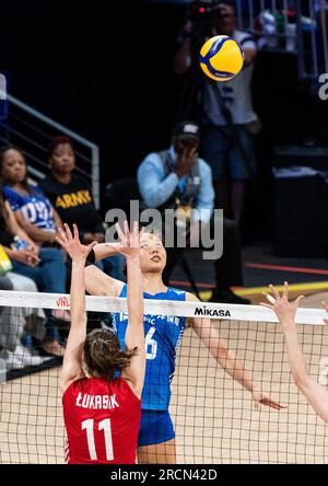
[[[95,242],[82,245],[77,225],[73,235],[67,224],[65,230],[57,240],[72,258],[71,328],[59,379],[68,436],[67,462],[133,464],[145,370],[138,225],[134,223],[131,234],[126,221],[125,234],[117,227],[119,251],[126,256],[128,271],[126,350],[120,349],[109,329],[94,329],[86,335],[84,265]],[[117,372],[120,378],[116,378]]]

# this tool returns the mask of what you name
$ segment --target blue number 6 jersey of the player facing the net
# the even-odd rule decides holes
[[[119,297],[127,297],[126,285]],[[155,296],[144,292],[143,297],[144,299],[185,301],[186,292],[169,287],[166,292]],[[127,313],[113,314],[113,331],[122,349],[125,349],[127,324]],[[176,349],[186,328],[186,317],[145,314],[143,324],[147,367],[141,407],[148,410],[167,410],[171,400],[171,382],[175,371]]]

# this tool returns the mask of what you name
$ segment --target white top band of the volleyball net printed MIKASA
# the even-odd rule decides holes
[[[0,290],[0,306],[65,310],[70,309],[70,296]],[[86,310],[94,312],[127,312],[127,300],[86,296]],[[279,322],[273,311],[260,305],[144,299],[144,313],[215,320],[227,319],[231,321]],[[327,313],[324,310],[298,309],[295,322],[297,324],[324,325],[324,319],[327,319]]]

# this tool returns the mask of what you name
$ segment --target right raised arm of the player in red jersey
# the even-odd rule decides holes
[[[129,350],[137,347],[138,355],[131,359],[130,367],[122,370],[121,378],[127,380],[136,395],[141,397],[145,371],[145,344],[142,278],[139,262],[140,240],[136,222],[131,235],[129,234],[127,222],[125,222],[125,229],[126,236],[119,231],[120,239],[126,246],[121,253],[126,255],[128,270],[128,326],[125,342],[126,348]]]

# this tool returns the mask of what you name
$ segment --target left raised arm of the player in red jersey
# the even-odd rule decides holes
[[[82,369],[82,350],[86,337],[84,265],[89,253],[96,242],[87,246],[82,245],[75,224],[73,224],[73,235],[68,224],[65,224],[65,231],[59,229],[59,233],[60,238],[57,238],[58,243],[61,244],[72,258],[70,291],[71,327],[59,378],[59,387],[63,393],[73,381],[84,377]]]

